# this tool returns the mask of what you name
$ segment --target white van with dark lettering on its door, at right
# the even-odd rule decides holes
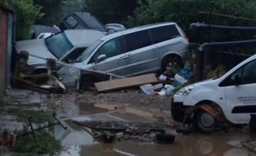
[[[220,78],[181,88],[174,95],[171,107],[172,118],[179,122],[183,122],[185,113],[192,110],[189,118],[201,132],[216,128],[220,119],[218,113],[224,114],[230,123],[248,124],[250,114],[256,113],[256,55]]]

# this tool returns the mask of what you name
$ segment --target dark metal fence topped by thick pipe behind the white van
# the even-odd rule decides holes
[[[212,42],[203,44],[197,52],[197,70],[195,80],[205,80],[210,78],[211,72],[223,74],[243,62],[253,54],[256,48],[256,40],[245,40],[238,42]],[[219,71],[222,70],[222,71]],[[213,75],[212,77],[217,76]],[[218,75],[219,76],[219,75]]]

